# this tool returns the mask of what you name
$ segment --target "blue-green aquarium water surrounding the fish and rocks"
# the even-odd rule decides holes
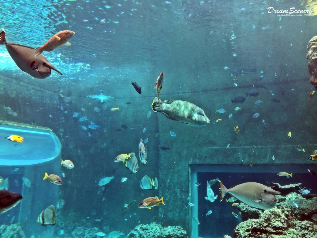
[[[43,172],[50,169],[48,164],[35,167],[37,172],[30,189],[36,193],[36,199],[24,199],[27,202],[23,201],[23,209],[29,207],[30,212],[27,218],[20,218],[26,226],[26,237],[74,237],[72,232],[77,227],[97,227],[106,234],[120,230],[127,235],[135,226],[153,221],[164,226],[181,225],[193,238],[233,235],[240,221],[219,203],[219,198],[209,204],[203,198],[204,181],[215,178],[216,172],[198,175],[201,224],[198,233],[191,234],[186,200],[193,182],[188,179],[189,164],[241,165],[242,159],[249,163],[252,158],[255,163],[298,163],[307,164],[307,169],[314,168],[314,161],[307,162],[307,157],[317,148],[316,98],[307,99],[314,87],[309,84],[306,71],[306,47],[316,35],[317,22],[315,16],[280,17],[267,11],[268,7],[305,9],[305,2],[0,2],[0,28],[4,28],[10,43],[36,48],[58,31],[75,32],[71,46],[43,52],[63,73],[52,71],[43,80],[21,71],[5,46],[0,45],[0,118],[51,128],[61,141],[61,159],[71,160],[75,165],[74,169],[61,167],[61,173],[56,172],[65,175],[58,188],[42,181]],[[307,6],[310,8],[313,7]],[[210,124],[191,127],[161,113],[154,114],[154,84],[162,71],[165,84],[160,99],[192,102],[204,110]],[[142,87],[141,95],[131,81]],[[230,101],[256,88],[257,97],[248,96],[242,104]],[[100,100],[100,95],[109,99]],[[256,100],[263,103],[255,105]],[[8,113],[8,107],[16,112],[15,116]],[[110,110],[118,107],[120,110]],[[237,111],[236,107],[241,109]],[[225,112],[215,114],[219,108]],[[73,117],[74,112],[79,116]],[[257,118],[253,118],[255,113],[259,113]],[[79,120],[86,116],[87,119]],[[218,119],[222,120],[216,123]],[[233,131],[237,125],[241,129],[238,135]],[[288,131],[292,132],[291,138]],[[148,139],[148,163],[139,164],[138,173],[130,174],[125,164],[114,163],[113,159],[134,152],[139,160],[140,138]],[[32,146],[38,148],[23,150],[29,148],[28,142],[36,140],[41,143]],[[3,151],[16,160],[40,157],[43,151],[54,150],[41,137],[26,136],[25,142],[16,146],[5,142],[0,147],[5,146]],[[295,144],[306,152],[296,151]],[[251,154],[252,145],[257,147],[256,154]],[[31,167],[21,167],[16,174],[10,173],[14,167],[0,168],[0,176],[9,178],[9,190],[23,193],[21,177],[27,168]],[[281,179],[268,181],[267,174],[259,179],[259,174],[242,176],[239,171],[234,172],[223,174],[221,180],[227,186]],[[144,175],[153,179],[157,176],[159,189],[142,190],[139,182]],[[292,182],[303,182],[316,192],[309,173],[297,177],[294,171],[294,175]],[[113,181],[98,186],[101,178],[111,176],[115,177]],[[124,177],[127,181],[120,182]],[[43,182],[46,188],[42,192],[39,189]],[[217,186],[212,188],[217,195]],[[57,189],[58,198],[50,196],[57,195]],[[151,210],[138,208],[139,202],[149,196],[164,196],[166,205]],[[61,201],[64,205],[57,207]],[[16,223],[23,202],[0,215],[0,225]],[[58,211],[56,225],[42,228],[36,223],[37,216],[51,203]],[[208,210],[213,213],[205,217]],[[213,219],[216,215],[217,219]],[[220,223],[225,225],[221,230],[217,229]]]

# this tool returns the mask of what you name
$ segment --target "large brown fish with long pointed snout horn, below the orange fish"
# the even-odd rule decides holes
[[[1,44],[5,44],[5,47],[16,65],[29,75],[39,79],[47,78],[51,75],[51,69],[62,75],[58,69],[49,63],[45,56],[39,55],[36,57],[34,48],[7,43],[4,29],[0,31],[0,45]]]

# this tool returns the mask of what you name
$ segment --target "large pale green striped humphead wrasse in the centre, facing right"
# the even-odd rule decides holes
[[[210,122],[204,110],[191,102],[165,100],[160,103],[159,99],[155,97],[152,109],[154,113],[162,112],[164,116],[171,120],[183,122],[191,126],[207,126]]]

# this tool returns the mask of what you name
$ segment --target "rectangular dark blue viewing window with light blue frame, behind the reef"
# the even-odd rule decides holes
[[[232,197],[226,194],[220,202],[218,182],[211,186],[217,199],[214,202],[207,201],[207,181],[217,177],[226,188],[244,182],[258,182],[269,186],[268,182],[276,182],[281,185],[302,183],[300,187],[312,188],[316,192],[316,179],[307,169],[316,171],[317,166],[312,164],[304,165],[190,165],[190,200],[195,204],[191,208],[191,237],[197,238],[218,238],[224,235],[233,237],[234,228],[242,222],[237,207],[226,199]],[[278,176],[279,172],[293,173],[293,177]],[[200,185],[199,185],[200,184]],[[198,185],[198,186],[197,186]],[[298,190],[294,190],[298,192]],[[211,210],[212,213],[207,215]],[[232,212],[238,215],[235,218]],[[198,225],[196,219],[200,222]]]

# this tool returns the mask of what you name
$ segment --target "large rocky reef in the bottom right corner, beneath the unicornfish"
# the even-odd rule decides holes
[[[238,209],[243,222],[235,228],[234,237],[316,237],[317,223],[311,217],[317,214],[317,198],[305,199],[294,192],[277,196],[279,202],[276,207],[265,211],[241,203]]]

